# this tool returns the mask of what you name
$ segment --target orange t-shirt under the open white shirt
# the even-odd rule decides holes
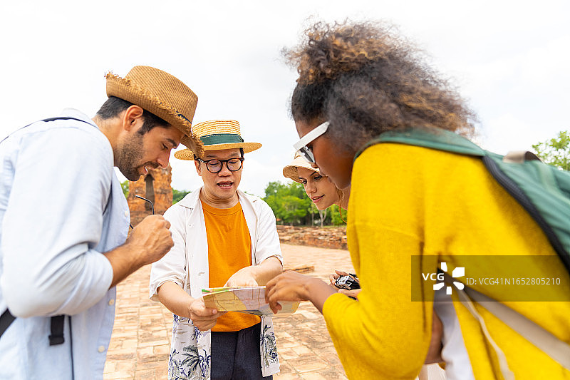
[[[202,202],[208,240],[209,287],[223,287],[232,274],[252,265],[252,240],[242,205],[216,208]],[[213,332],[237,332],[261,322],[257,315],[227,312]]]

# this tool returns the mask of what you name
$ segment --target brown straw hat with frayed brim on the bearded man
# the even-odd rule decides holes
[[[185,134],[182,144],[202,151],[198,138],[192,136],[198,97],[182,81],[150,66],[135,66],[125,78],[111,72],[106,78],[107,96],[116,96],[157,115]]]

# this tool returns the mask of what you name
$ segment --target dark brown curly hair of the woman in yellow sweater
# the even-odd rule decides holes
[[[475,114],[411,43],[385,24],[323,24],[285,50],[299,78],[294,120],[328,120],[328,138],[356,153],[385,130],[435,127],[472,135]]]

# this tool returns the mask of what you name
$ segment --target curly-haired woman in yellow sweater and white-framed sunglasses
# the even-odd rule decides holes
[[[306,37],[286,52],[299,72],[291,99],[296,148],[337,188],[351,186],[348,249],[362,291],[357,301],[320,279],[284,272],[266,285],[271,307],[311,301],[350,379],[414,379],[434,307],[443,322],[447,379],[570,379],[569,370],[480,304],[475,319],[460,302],[434,302],[433,282],[420,284],[443,263],[450,271],[465,267],[472,278],[489,267],[502,277],[511,269],[504,256],[522,256],[537,277],[563,279],[564,286],[549,288],[551,296],[570,294],[569,275],[544,232],[479,158],[371,143],[400,130],[420,140],[470,136],[474,113],[390,26],[315,24]],[[520,288],[472,288],[570,342],[570,302],[510,302]]]

